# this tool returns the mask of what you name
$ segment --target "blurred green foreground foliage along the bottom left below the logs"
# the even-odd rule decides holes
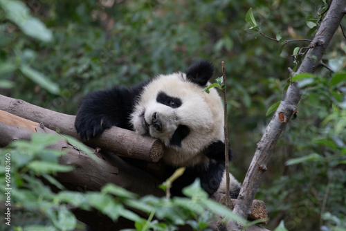
[[[11,178],[11,203],[15,205],[16,210],[23,210],[27,214],[21,222],[12,223],[17,227],[16,230],[74,230],[77,220],[70,210],[77,207],[83,210],[94,208],[109,216],[113,221],[120,216],[125,217],[134,221],[136,230],[177,230],[179,225],[185,224],[192,226],[194,230],[201,230],[207,228],[211,221],[216,221],[217,216],[246,223],[235,216],[231,210],[211,201],[208,194],[201,189],[199,181],[195,181],[183,190],[187,198],[156,198],[155,196],[139,198],[138,195],[111,184],[105,185],[101,192],[68,191],[51,175],[48,175],[71,170],[71,167],[57,163],[60,151],[46,148],[59,138],[60,136],[34,133],[30,142],[13,142],[10,147],[2,150],[4,154],[0,159],[1,184],[5,184],[3,181],[6,172],[5,153],[10,153],[11,173],[14,174]],[[179,177],[178,175],[179,172],[169,181],[174,181],[174,178]],[[50,187],[34,176],[42,176],[62,191],[52,192]],[[4,193],[3,188],[1,192]],[[143,219],[128,207],[146,212],[149,218]],[[45,216],[42,216],[42,213]],[[12,216],[21,215],[12,214]],[[46,225],[30,223],[30,218],[42,219],[42,223]],[[44,221],[45,219],[47,221]],[[3,223],[1,225],[4,226]]]

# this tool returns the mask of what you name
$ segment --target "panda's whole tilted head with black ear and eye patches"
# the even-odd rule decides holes
[[[213,68],[201,61],[185,73],[158,75],[140,94],[131,114],[134,131],[161,140],[166,163],[176,166],[208,164],[203,153],[214,142],[224,142],[221,98],[206,93]]]

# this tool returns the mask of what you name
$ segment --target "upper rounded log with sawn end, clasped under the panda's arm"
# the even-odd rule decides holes
[[[37,107],[23,100],[0,95],[0,110],[7,111],[21,118],[43,124],[44,127],[80,139],[75,131],[75,115],[66,115],[56,111]],[[98,138],[92,138],[86,145],[111,151],[119,156],[127,156],[157,162],[161,159],[164,146],[161,141],[140,136],[134,131],[111,127]]]

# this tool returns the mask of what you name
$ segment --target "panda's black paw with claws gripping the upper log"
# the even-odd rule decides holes
[[[83,141],[101,136],[104,129],[112,126],[111,121],[105,117],[77,116],[75,119],[75,129]]]

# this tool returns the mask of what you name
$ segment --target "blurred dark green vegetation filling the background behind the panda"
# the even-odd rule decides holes
[[[282,47],[248,30],[246,12],[253,8],[264,35],[312,39],[326,3],[0,0],[0,93],[75,114],[91,91],[131,86],[199,59],[213,62],[219,77],[224,61],[231,172],[242,181],[271,119],[266,111],[282,98],[287,68],[300,61],[291,55],[309,45]],[[280,221],[287,230],[346,229],[345,41],[339,28],[324,55],[332,72],[321,68],[301,82],[298,118],[277,143],[257,193],[269,229]]]

